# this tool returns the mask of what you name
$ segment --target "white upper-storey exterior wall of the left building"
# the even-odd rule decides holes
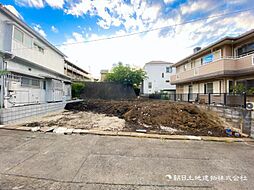
[[[14,39],[14,28],[17,27],[23,34],[32,38],[32,46],[27,47]],[[36,36],[26,31],[9,17],[0,12],[0,49],[8,51],[23,59],[64,74],[64,57],[54,51]],[[34,43],[39,44],[44,53],[34,48]]]

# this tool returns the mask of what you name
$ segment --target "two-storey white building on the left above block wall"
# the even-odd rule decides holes
[[[64,102],[65,55],[0,4],[0,107]]]

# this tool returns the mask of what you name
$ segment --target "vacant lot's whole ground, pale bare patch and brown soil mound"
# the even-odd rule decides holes
[[[68,104],[68,111],[25,126],[67,127],[104,131],[226,136],[228,126],[215,113],[185,103],[160,100],[85,100]]]

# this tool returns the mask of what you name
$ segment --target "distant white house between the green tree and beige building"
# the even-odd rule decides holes
[[[145,64],[144,71],[147,78],[142,84],[142,94],[154,94],[156,92],[175,92],[175,85],[171,85],[170,76],[175,74],[172,63],[164,61],[151,61]]]

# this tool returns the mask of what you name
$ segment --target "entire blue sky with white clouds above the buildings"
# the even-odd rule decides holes
[[[123,63],[142,67],[151,60],[176,62],[224,36],[254,28],[254,10],[126,38],[86,40],[140,32],[254,8],[253,0],[0,0],[58,46],[71,61],[95,76]]]

